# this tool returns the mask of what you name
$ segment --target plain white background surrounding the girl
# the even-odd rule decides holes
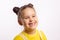
[[[28,3],[36,9],[38,29],[44,31],[48,40],[60,40],[60,0],[0,0],[0,40],[13,40],[23,30],[12,9]]]

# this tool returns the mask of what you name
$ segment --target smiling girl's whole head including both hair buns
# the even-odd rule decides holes
[[[36,29],[38,24],[38,19],[36,16],[35,9],[31,3],[28,5],[24,5],[21,8],[14,7],[13,11],[18,16],[18,23],[20,25],[23,25],[25,30]]]

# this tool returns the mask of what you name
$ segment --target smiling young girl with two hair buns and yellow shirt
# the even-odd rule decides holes
[[[18,16],[18,23],[24,27],[24,30],[14,37],[14,40],[47,40],[44,33],[36,29],[38,18],[31,3],[21,8],[14,7],[13,11]]]

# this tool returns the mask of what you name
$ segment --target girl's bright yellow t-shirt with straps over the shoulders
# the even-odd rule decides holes
[[[17,35],[14,40],[47,40],[46,36],[42,31],[36,30],[35,34],[29,35],[26,32],[22,32],[19,35]]]

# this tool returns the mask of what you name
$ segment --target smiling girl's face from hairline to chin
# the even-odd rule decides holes
[[[22,10],[21,21],[26,30],[34,30],[37,27],[38,19],[33,8],[26,8]]]

